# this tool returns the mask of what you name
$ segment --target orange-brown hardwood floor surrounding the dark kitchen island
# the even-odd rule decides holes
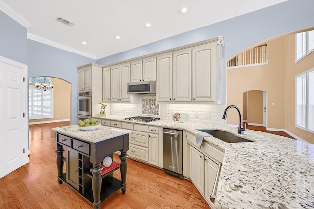
[[[0,179],[0,209],[93,208],[70,186],[57,182],[56,147],[51,128],[65,125],[69,122],[30,125],[30,163]],[[114,160],[120,161],[117,155]],[[119,178],[120,172],[115,171],[114,176]],[[102,202],[101,208],[210,209],[190,181],[132,159],[128,159],[126,194],[116,192]]]

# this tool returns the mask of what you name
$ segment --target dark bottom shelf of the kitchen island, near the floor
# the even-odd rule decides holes
[[[59,180],[62,182],[66,183],[67,185],[71,186],[69,183],[66,182],[65,178],[65,173],[62,174],[62,176],[58,177]],[[85,192],[84,194],[78,190],[76,190],[73,186],[71,186],[75,191],[78,192],[82,197],[84,197],[86,200],[89,202],[93,203],[94,202],[94,197],[93,197],[93,190],[90,190],[88,192]],[[102,179],[102,187],[101,187],[101,192],[100,192],[100,201],[103,202],[105,199],[110,197],[112,194],[115,192],[119,191],[120,189],[124,188],[125,186],[121,185],[121,180],[111,177],[111,176],[106,176]]]

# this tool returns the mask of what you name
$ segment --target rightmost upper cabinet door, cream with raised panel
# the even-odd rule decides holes
[[[195,47],[193,53],[193,101],[214,101],[212,44]]]

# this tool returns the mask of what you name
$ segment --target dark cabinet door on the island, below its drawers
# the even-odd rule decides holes
[[[66,147],[66,182],[78,190],[78,151]]]

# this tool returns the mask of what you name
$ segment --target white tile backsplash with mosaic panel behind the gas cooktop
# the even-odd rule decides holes
[[[190,116],[189,122],[223,126],[224,109],[225,105],[214,104],[156,104],[155,97],[143,95],[136,104],[111,103],[110,114],[126,117],[151,115],[158,116],[161,120],[172,121],[173,113],[187,113]]]

